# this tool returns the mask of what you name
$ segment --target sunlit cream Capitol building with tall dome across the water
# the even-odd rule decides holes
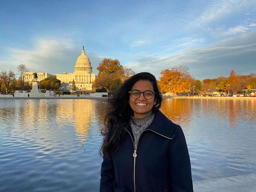
[[[82,54],[78,56],[76,65],[74,67],[74,73],[63,72],[62,74],[49,74],[45,72],[36,72],[38,74],[38,81],[48,77],[54,77],[61,81],[60,89],[71,90],[72,82],[74,80],[76,89],[78,90],[92,90],[92,83],[94,82],[96,75],[92,72],[91,62],[85,54],[84,46]],[[27,72],[25,80],[32,82],[33,72]]]

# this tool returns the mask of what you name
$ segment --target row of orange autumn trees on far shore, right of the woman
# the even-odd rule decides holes
[[[232,70],[228,78],[220,76],[214,79],[204,79],[201,82],[192,78],[188,67],[179,66],[163,70],[158,84],[162,92],[229,92],[236,94],[242,89],[256,89],[256,74],[237,75]]]

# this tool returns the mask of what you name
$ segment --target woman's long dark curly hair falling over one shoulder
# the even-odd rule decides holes
[[[130,126],[130,116],[133,115],[132,108],[128,103],[130,96],[128,92],[139,80],[150,81],[153,85],[156,104],[154,104],[152,112],[155,112],[161,107],[162,96],[158,90],[154,75],[148,72],[141,72],[127,79],[118,89],[114,90],[108,98],[105,129],[101,132],[104,139],[100,147],[100,156],[111,159],[113,154],[118,150],[124,133],[128,126]]]

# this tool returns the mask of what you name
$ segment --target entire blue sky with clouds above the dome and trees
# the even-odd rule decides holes
[[[256,73],[256,0],[0,0],[0,68],[73,73],[82,46],[159,78]]]

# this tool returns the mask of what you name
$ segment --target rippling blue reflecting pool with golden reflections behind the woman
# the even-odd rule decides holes
[[[0,100],[0,191],[99,190],[106,100]],[[256,100],[164,99],[193,181],[256,172]]]

